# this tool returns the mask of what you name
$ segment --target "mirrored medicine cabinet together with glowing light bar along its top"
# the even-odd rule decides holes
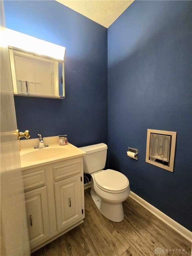
[[[14,95],[65,98],[65,47],[7,30]]]

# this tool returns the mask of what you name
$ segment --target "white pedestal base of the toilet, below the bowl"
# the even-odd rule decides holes
[[[124,219],[123,204],[120,203],[110,203],[101,199],[95,191],[91,189],[91,197],[94,204],[100,211],[100,213],[107,219],[114,222],[120,222]]]

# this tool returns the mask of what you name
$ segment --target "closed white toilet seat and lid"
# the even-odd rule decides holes
[[[94,174],[95,184],[103,191],[121,193],[129,187],[127,177],[115,170],[107,169]]]

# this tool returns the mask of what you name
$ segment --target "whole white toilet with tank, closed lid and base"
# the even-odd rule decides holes
[[[127,177],[111,169],[103,170],[107,157],[104,143],[81,147],[87,154],[83,157],[84,173],[91,175],[91,197],[99,211],[109,220],[124,219],[122,202],[130,194]]]

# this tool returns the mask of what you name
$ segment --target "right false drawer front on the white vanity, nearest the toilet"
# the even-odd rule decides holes
[[[67,176],[73,176],[81,172],[81,159],[76,161],[66,160],[61,165],[53,167],[54,180],[63,179]]]

